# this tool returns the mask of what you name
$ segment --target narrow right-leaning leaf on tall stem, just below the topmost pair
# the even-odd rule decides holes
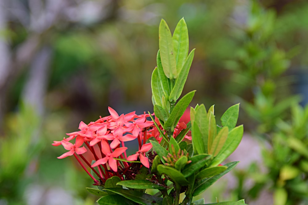
[[[169,96],[169,101],[176,101],[181,96],[185,82],[187,80],[187,76],[188,76],[190,66],[192,65],[192,62],[193,62],[194,54],[195,54],[195,49],[193,49],[189,53],[189,56],[187,57],[187,60],[184,64],[183,68],[181,69],[180,73],[178,73],[174,87],[173,87],[173,89],[170,93],[170,96]]]

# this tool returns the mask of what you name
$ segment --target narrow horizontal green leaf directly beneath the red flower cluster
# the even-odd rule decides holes
[[[127,188],[132,188],[132,189],[165,189],[165,187],[152,183],[148,180],[125,180],[125,181],[120,181],[117,183],[117,185],[122,185]]]

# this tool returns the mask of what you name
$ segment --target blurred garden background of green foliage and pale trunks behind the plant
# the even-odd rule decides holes
[[[183,93],[216,116],[241,102],[254,140],[241,146],[261,150],[238,153],[245,166],[206,201],[308,204],[307,1],[2,0],[0,205],[95,204],[91,178],[51,143],[108,106],[152,112],[158,25],[182,17],[196,48]]]

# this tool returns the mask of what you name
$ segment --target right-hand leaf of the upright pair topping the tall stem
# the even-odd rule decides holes
[[[172,43],[176,58],[177,73],[180,73],[188,55],[189,48],[188,29],[184,18],[182,18],[176,25],[172,36]]]

